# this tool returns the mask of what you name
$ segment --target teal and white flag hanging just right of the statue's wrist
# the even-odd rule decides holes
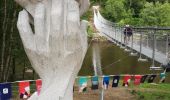
[[[87,90],[87,77],[79,78],[79,92],[85,92]]]

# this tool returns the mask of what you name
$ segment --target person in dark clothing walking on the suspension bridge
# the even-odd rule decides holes
[[[126,25],[124,28],[124,43],[130,41],[130,37],[133,35],[132,28]]]

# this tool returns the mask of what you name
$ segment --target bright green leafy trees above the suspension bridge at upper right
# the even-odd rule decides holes
[[[104,17],[120,25],[170,26],[170,0],[106,0]]]

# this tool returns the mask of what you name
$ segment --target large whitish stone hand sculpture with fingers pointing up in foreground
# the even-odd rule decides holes
[[[73,100],[73,84],[87,51],[89,0],[16,0],[24,10],[17,27],[26,54],[40,78],[30,100]]]

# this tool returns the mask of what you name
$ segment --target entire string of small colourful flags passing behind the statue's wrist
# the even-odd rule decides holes
[[[157,75],[160,75],[160,82],[165,81],[166,74],[160,73],[160,74],[149,74],[149,75],[117,75],[113,76],[113,82],[112,87],[118,87],[120,77],[123,76],[123,86],[129,86],[129,83],[131,81],[132,76],[134,76],[134,85],[140,85],[140,83],[144,83],[145,80],[147,80],[148,83],[153,83]],[[109,87],[109,81],[110,76],[91,76],[91,89],[99,89],[99,77],[103,78],[103,88],[108,89]],[[30,80],[34,81],[34,80]],[[79,77],[79,92],[84,92],[87,90],[87,81],[88,77],[82,76]],[[18,82],[13,82],[18,83]],[[22,81],[19,82],[19,95],[21,99],[27,99],[30,97],[30,83],[29,81]],[[36,90],[37,95],[40,95],[42,87],[42,81],[36,80]],[[12,96],[12,89],[11,89],[11,83],[0,83],[0,100],[9,100]]]

